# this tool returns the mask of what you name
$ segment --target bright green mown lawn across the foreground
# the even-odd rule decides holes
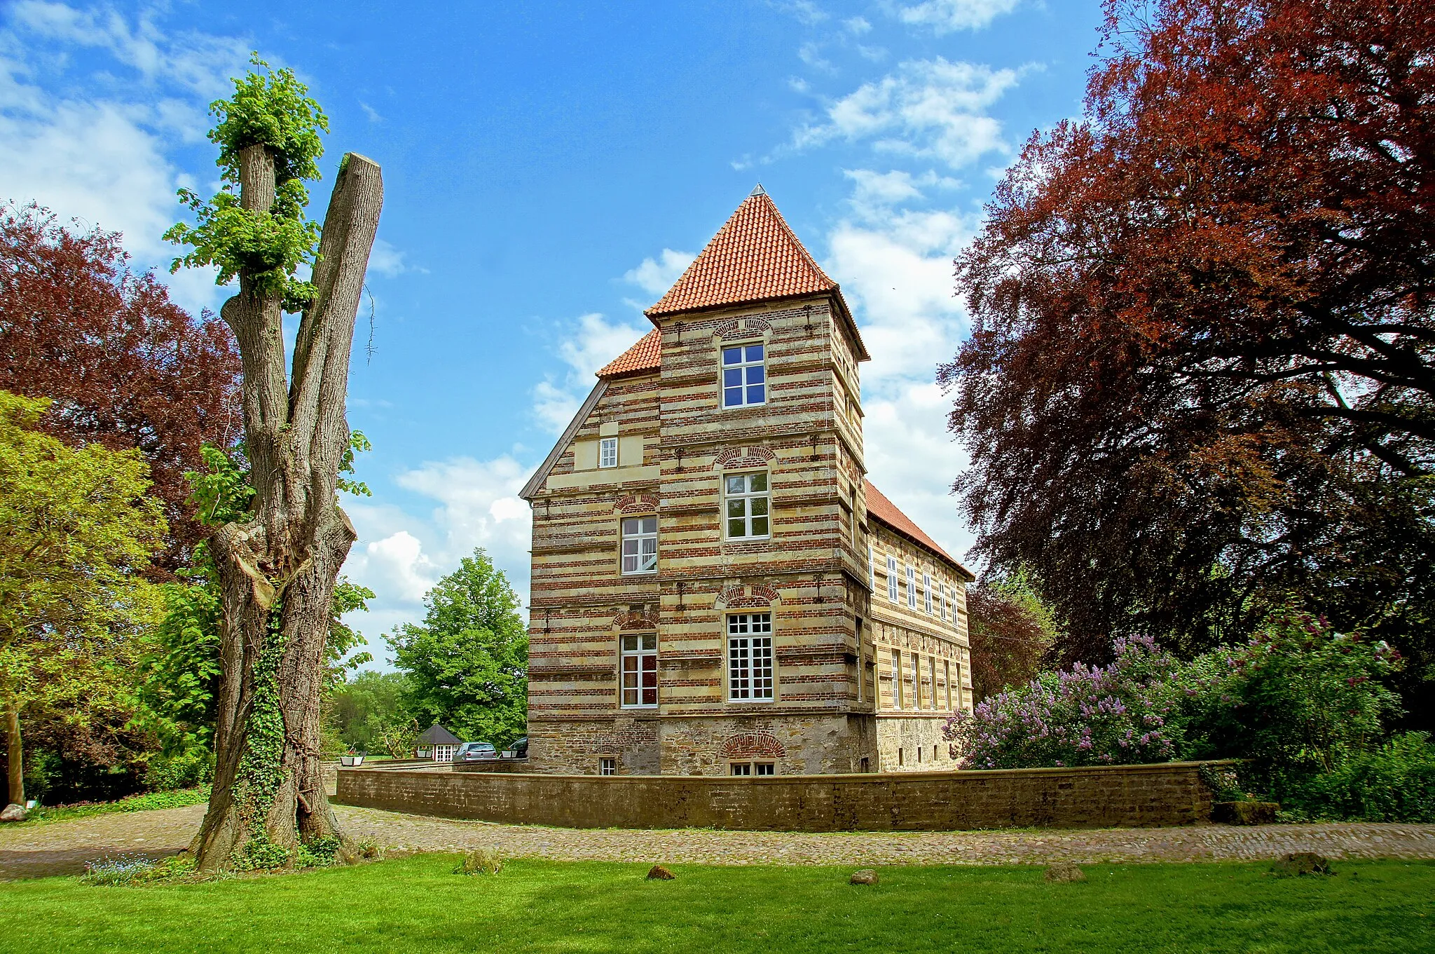
[[[514,861],[453,875],[453,855],[210,884],[0,884],[0,950],[62,951],[1431,951],[1435,864],[1040,868],[646,866]]]

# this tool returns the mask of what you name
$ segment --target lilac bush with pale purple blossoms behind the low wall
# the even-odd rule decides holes
[[[947,720],[966,769],[1168,762],[1181,747],[1180,666],[1154,640],[1122,638],[1109,666],[1078,663]]]

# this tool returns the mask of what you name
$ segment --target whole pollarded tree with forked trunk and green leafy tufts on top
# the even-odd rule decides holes
[[[198,224],[171,241],[181,265],[238,280],[220,314],[241,359],[244,450],[254,491],[210,539],[222,625],[215,778],[191,845],[201,869],[274,868],[303,852],[352,858],[320,776],[320,686],[334,581],[354,529],[336,496],[350,446],[349,353],[383,204],[379,166],[346,154],[323,230],[304,218],[327,119],[287,69],[251,72],[211,106],[224,186],[181,192]],[[296,271],[311,263],[310,281]],[[284,311],[301,314],[286,373]]]

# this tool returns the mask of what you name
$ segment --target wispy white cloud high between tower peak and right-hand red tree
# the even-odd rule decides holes
[[[888,154],[934,158],[951,168],[989,152],[1006,154],[1002,123],[987,113],[1016,85],[1020,70],[943,57],[908,60],[894,73],[865,83],[827,110],[827,122],[802,126],[798,149],[844,139],[871,141]]]

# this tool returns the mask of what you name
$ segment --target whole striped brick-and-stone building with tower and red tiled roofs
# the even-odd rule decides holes
[[[524,488],[531,770],[950,768],[971,574],[865,481],[837,284],[759,189],[647,314]]]

